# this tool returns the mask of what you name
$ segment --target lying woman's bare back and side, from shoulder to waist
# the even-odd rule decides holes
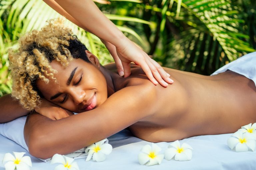
[[[167,88],[155,86],[158,93],[155,111],[130,126],[137,137],[152,142],[173,141],[196,135],[232,133],[256,122],[256,87],[252,80],[232,71],[203,76],[165,70],[175,83]],[[126,86],[133,86],[148,80],[140,68],[133,68],[126,81]]]

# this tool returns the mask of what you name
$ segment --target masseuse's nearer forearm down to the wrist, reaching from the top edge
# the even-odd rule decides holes
[[[99,10],[92,0],[55,0],[80,27],[93,33],[100,39],[118,47],[123,33]]]

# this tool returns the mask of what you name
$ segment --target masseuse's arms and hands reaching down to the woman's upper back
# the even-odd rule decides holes
[[[99,37],[113,56],[119,74],[128,77],[131,74],[130,62],[140,65],[147,77],[155,85],[158,82],[167,87],[171,80],[164,69],[143,50],[131,42],[99,10],[92,0],[44,0],[49,6],[66,16],[79,27]],[[56,3],[57,2],[57,3]],[[157,80],[157,81],[156,81]]]

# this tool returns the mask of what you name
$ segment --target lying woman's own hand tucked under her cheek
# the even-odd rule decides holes
[[[51,120],[59,120],[73,115],[72,112],[49,102],[46,99],[42,99],[40,108],[35,108],[35,111],[40,115],[43,115]]]

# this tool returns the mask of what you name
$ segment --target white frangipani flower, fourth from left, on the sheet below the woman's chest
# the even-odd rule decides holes
[[[161,164],[164,159],[164,154],[158,154],[162,149],[157,146],[155,143],[152,143],[152,147],[150,145],[145,145],[142,147],[141,152],[138,155],[139,163],[144,165],[146,163],[147,166]]]

